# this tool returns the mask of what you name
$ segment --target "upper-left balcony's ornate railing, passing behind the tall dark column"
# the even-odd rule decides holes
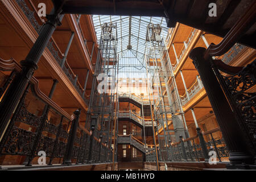
[[[30,21],[32,26],[35,28],[36,32],[38,32],[39,34],[45,21],[44,19],[38,16],[38,14],[36,13],[37,10],[35,9],[35,6],[32,4],[31,1],[26,1],[26,0],[16,0],[16,3],[18,3],[20,9],[22,9],[23,13],[27,16],[28,20]],[[28,6],[32,7],[33,10],[31,10]],[[49,40],[49,43],[47,44],[47,48],[49,49],[49,51],[51,52],[52,56],[55,58],[57,63],[61,65],[64,58],[64,54],[60,51],[60,48],[57,46],[53,38]],[[65,73],[65,75],[67,75],[69,80],[75,86],[77,92],[79,92],[80,96],[82,97],[82,93],[84,92],[84,89],[79,83],[79,80],[76,81],[76,75],[75,73],[73,73],[71,67],[69,67],[67,61],[65,61],[63,72]],[[88,103],[88,100],[86,98],[85,98],[85,102]]]

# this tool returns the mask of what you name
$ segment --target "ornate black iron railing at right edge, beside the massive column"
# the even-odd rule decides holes
[[[212,60],[215,75],[245,134],[251,154],[256,154],[256,60],[246,67],[230,67]],[[224,76],[225,73],[225,76]]]

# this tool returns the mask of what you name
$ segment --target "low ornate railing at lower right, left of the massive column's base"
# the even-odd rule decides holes
[[[165,161],[201,161],[205,159],[205,155],[208,155],[211,162],[227,161],[229,157],[226,144],[221,137],[220,128],[209,130],[200,133],[203,138],[203,142],[199,139],[199,136],[182,139],[176,143],[170,143],[168,146],[160,148],[159,160]],[[206,148],[206,151],[203,148]],[[213,152],[211,152],[213,151]],[[148,152],[146,154],[146,161],[155,161],[155,152]]]

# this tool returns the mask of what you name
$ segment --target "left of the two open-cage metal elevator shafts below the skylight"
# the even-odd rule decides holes
[[[104,23],[101,26],[96,67],[93,75],[92,90],[88,113],[86,115],[86,128],[92,131],[93,136],[101,138],[108,146],[105,151],[105,161],[112,157],[112,131],[114,124],[114,89],[117,77],[117,24]],[[106,84],[102,84],[102,83]],[[112,85],[112,86],[111,86]],[[89,160],[95,161],[98,156],[94,143],[90,143]]]

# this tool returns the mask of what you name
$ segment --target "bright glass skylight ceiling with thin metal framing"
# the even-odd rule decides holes
[[[166,39],[168,28],[166,19],[150,16],[110,16],[93,15],[93,23],[98,42],[101,36],[101,24],[117,23],[117,54],[119,55],[119,78],[146,77],[144,53],[146,31],[149,23],[162,26],[161,36]],[[128,49],[130,44],[131,49]]]

